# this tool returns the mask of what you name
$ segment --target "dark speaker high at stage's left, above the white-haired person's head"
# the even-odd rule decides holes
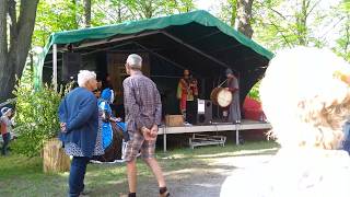
[[[65,53],[62,57],[62,81],[71,81],[78,78],[78,72],[81,68],[81,54]]]

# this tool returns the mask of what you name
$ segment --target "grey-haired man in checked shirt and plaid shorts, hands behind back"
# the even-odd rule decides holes
[[[151,167],[160,187],[160,196],[170,196],[162,170],[154,158],[158,126],[161,124],[162,103],[156,85],[141,72],[142,58],[129,55],[126,62],[130,76],[122,82],[127,129],[130,140],[126,144],[124,159],[127,162],[129,197],[136,196],[137,166],[136,158],[141,157]]]

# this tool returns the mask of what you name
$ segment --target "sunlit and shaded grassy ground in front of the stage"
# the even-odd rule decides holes
[[[271,154],[277,147],[276,143],[262,142],[180,149],[167,153],[158,152],[158,161],[171,189],[179,194],[172,196],[186,196],[194,188],[203,190],[206,195],[202,196],[218,196],[221,183],[236,166],[215,162],[217,160]],[[69,173],[44,174],[40,158],[10,155],[0,158],[0,196],[67,196]],[[142,160],[138,160],[138,192],[141,196],[158,195],[155,178]],[[85,185],[93,190],[90,196],[127,194],[126,166],[89,164]]]

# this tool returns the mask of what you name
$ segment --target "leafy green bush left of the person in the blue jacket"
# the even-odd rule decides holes
[[[62,94],[47,84],[38,91],[33,91],[33,86],[28,83],[19,84],[14,91],[15,131],[19,138],[12,147],[21,154],[34,157],[40,153],[47,139],[57,136],[58,105]]]

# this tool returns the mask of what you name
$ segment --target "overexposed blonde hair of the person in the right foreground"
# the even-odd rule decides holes
[[[326,49],[296,47],[277,54],[261,81],[260,99],[282,147],[339,147],[350,114],[349,69]]]

